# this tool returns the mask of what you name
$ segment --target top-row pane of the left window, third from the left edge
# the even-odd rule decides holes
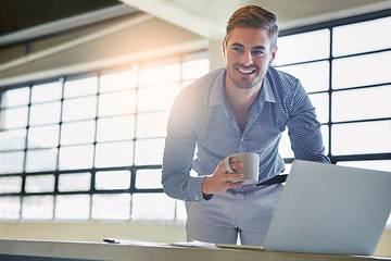
[[[98,92],[98,77],[66,80],[64,98],[96,95]]]

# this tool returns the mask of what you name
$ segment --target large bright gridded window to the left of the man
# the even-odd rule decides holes
[[[205,51],[0,92],[0,219],[185,220],[163,192],[171,104]]]

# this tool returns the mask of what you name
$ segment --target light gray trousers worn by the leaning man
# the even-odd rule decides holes
[[[187,240],[262,246],[283,185],[227,190],[209,201],[186,202]]]

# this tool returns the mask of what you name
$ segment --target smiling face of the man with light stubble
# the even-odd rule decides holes
[[[236,27],[223,41],[227,63],[226,84],[250,89],[262,82],[277,48],[270,49],[268,32],[263,28]]]

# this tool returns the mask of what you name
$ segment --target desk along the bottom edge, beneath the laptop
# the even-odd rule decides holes
[[[5,256],[4,256],[5,254]],[[24,257],[21,257],[24,256]],[[30,258],[28,258],[30,257]],[[34,258],[35,257],[35,258]],[[37,259],[40,257],[40,259]],[[43,258],[45,257],[45,258]],[[0,260],[131,260],[131,261],[370,261],[370,257],[267,252],[243,249],[131,246],[106,243],[0,240]],[[391,259],[388,259],[391,260]]]

